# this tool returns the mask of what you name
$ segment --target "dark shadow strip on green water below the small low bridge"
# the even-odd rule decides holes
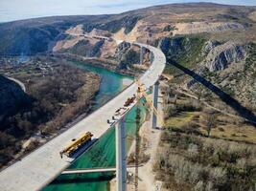
[[[88,175],[76,175],[75,177],[65,177],[65,176],[61,176],[60,178],[54,180],[51,182],[51,184],[65,184],[65,183],[92,183],[92,182],[98,182],[98,181],[110,181],[113,178],[115,178],[114,173],[112,173],[112,175],[103,175],[104,173],[102,173],[99,176],[95,176],[95,177],[89,177]]]

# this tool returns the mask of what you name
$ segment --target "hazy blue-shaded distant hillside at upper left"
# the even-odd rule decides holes
[[[55,16],[0,24],[0,54],[28,55],[52,50],[65,30],[103,16]]]

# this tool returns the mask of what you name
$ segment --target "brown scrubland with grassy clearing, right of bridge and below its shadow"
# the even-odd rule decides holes
[[[156,180],[167,190],[253,190],[255,127],[225,116],[226,106],[221,113],[171,87],[162,88],[166,129],[153,166]]]

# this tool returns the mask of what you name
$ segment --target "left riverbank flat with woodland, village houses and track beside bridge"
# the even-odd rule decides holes
[[[4,142],[9,145],[0,147],[4,153],[0,154],[2,170],[57,137],[71,126],[67,124],[78,121],[73,118],[85,117],[92,110],[101,77],[60,61],[61,64],[58,59],[39,56],[19,67],[1,68],[8,76],[22,81],[31,97],[31,102],[17,106],[12,116],[1,120],[1,136],[7,137]]]

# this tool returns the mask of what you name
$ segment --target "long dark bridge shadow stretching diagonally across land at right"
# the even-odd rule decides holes
[[[228,106],[233,108],[240,115],[240,117],[244,117],[244,119],[246,119],[247,121],[249,121],[256,127],[255,115],[250,110],[248,110],[243,105],[241,105],[241,103],[238,100],[236,100],[232,96],[229,96],[228,94],[224,93],[223,91],[221,91],[220,88],[218,88],[217,86],[212,84],[210,81],[205,79],[203,76],[195,73],[194,71],[191,71],[191,70],[181,66],[180,64],[175,63],[173,60],[170,60],[170,59],[168,59],[168,63],[175,66],[177,69],[181,70],[183,73],[188,74],[191,77],[193,77],[196,81],[201,83],[203,86],[205,86],[207,89],[209,89],[212,93],[219,96],[221,98],[221,100],[224,103],[226,103]]]

